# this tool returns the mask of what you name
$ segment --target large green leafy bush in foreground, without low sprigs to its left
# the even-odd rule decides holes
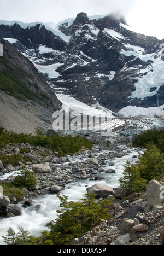
[[[51,225],[50,237],[54,245],[69,245],[75,238],[90,231],[101,219],[110,219],[112,216],[106,207],[109,200],[97,203],[95,195],[86,194],[86,199],[78,202],[68,201],[68,197],[58,196],[61,201],[61,210],[58,219]]]

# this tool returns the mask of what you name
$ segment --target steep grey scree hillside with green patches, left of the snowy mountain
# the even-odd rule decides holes
[[[61,102],[30,60],[7,40],[0,38],[0,43],[1,126],[19,133],[51,128],[52,114]]]

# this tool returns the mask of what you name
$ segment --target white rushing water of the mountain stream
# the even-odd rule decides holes
[[[126,148],[128,150],[128,148]],[[132,162],[136,161],[137,158],[133,158],[133,155],[137,155],[139,152],[137,149],[129,149],[131,153],[122,156],[122,158],[115,158],[114,160],[109,159],[109,162],[113,162],[114,166],[112,168],[116,173],[100,173],[99,176],[104,179],[101,181],[90,181],[90,180],[80,180],[72,184],[68,184],[67,187],[60,191],[60,194],[67,195],[69,200],[79,200],[85,197],[86,188],[91,187],[94,184],[104,184],[109,185],[112,188],[119,187],[119,179],[122,177],[124,172],[124,166],[127,160]],[[101,152],[104,153],[104,152]],[[72,157],[72,162],[75,161]],[[85,161],[85,159],[83,159]],[[108,170],[110,166],[103,167],[104,170]],[[3,177],[0,177],[0,179]],[[55,220],[57,218],[56,210],[59,208],[60,201],[56,194],[40,195],[34,199],[35,204],[31,207],[23,208],[22,215],[13,218],[0,218],[0,244],[3,243],[2,236],[7,235],[8,229],[23,227],[28,230],[31,235],[39,236],[42,231],[48,230],[46,224],[50,220]],[[39,207],[37,207],[39,205]]]

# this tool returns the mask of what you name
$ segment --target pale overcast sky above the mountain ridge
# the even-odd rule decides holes
[[[54,22],[88,16],[120,13],[135,31],[164,38],[163,0],[0,0],[0,20]]]

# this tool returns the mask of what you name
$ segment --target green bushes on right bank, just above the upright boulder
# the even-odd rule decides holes
[[[148,131],[144,135],[139,135],[135,140],[135,145],[141,145],[141,143],[149,142],[145,145],[147,148],[142,157],[140,157],[140,162],[136,165],[131,165],[131,162],[127,161],[124,176],[120,178],[121,187],[125,189],[128,194],[139,193],[145,191],[147,183],[152,179],[161,181],[164,175],[164,160],[163,155],[160,151],[161,147],[161,132],[159,136],[159,131]],[[143,138],[143,142],[140,139]],[[150,143],[151,142],[151,143]],[[164,142],[164,140],[163,140]]]

